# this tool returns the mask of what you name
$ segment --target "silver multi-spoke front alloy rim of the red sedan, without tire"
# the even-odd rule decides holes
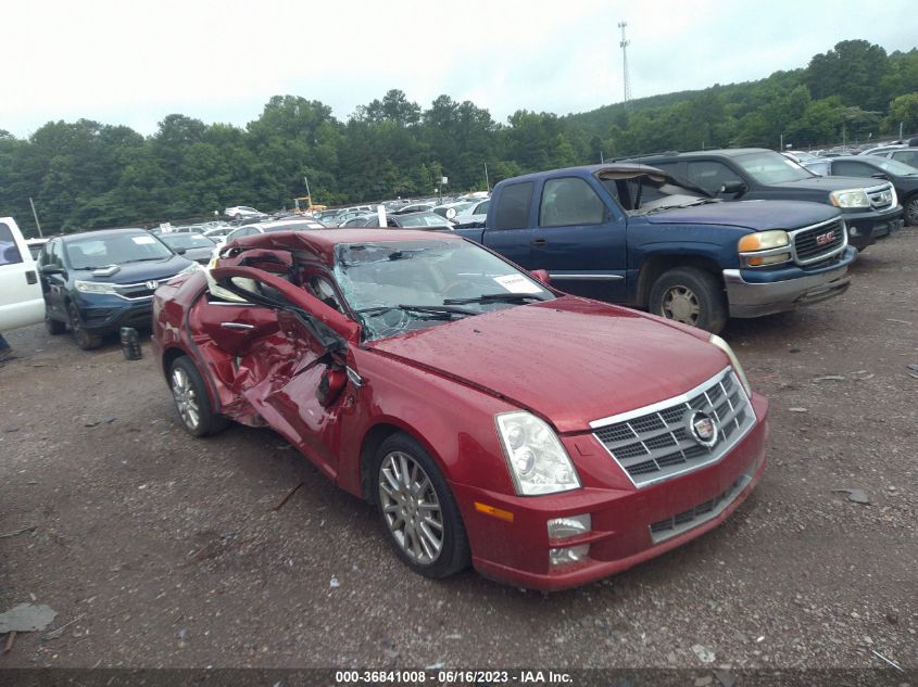
[[[443,513],[430,478],[411,455],[387,454],[379,467],[379,502],[395,542],[418,565],[431,565],[443,549]]]

